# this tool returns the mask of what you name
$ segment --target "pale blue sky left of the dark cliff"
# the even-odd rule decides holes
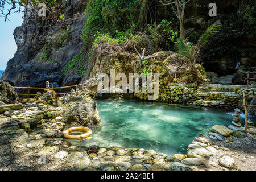
[[[13,31],[23,23],[23,13],[13,13],[9,20],[0,17],[0,70],[5,70],[9,59],[13,58],[17,51]]]

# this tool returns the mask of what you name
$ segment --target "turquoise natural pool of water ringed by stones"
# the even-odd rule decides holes
[[[231,125],[233,120],[233,113],[223,110],[137,100],[97,100],[97,109],[102,120],[91,135],[93,139],[69,142],[184,154],[194,137],[207,133],[213,125]],[[241,117],[242,126],[243,120]]]

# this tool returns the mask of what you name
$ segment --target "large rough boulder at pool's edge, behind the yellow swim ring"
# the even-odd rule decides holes
[[[101,122],[96,102],[89,97],[71,97],[61,110],[62,121],[69,126],[86,126],[93,129]]]

